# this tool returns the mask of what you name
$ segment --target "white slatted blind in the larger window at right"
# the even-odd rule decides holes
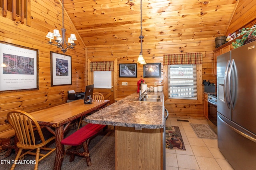
[[[197,100],[196,64],[168,66],[168,98]]]

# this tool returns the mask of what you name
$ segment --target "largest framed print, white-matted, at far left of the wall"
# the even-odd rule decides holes
[[[38,90],[38,49],[0,41],[0,92]]]

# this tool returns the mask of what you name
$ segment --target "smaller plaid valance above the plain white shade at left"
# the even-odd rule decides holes
[[[114,71],[113,61],[100,61],[90,63],[91,71]]]

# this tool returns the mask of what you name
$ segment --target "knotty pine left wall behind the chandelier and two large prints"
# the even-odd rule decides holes
[[[2,16],[0,8],[0,41],[22,45],[39,50],[39,90],[22,92],[0,92],[0,131],[10,129],[6,124],[6,114],[14,109],[32,112],[39,109],[66,103],[68,90],[76,92],[85,89],[85,47],[69,18],[65,14],[64,23],[66,37],[75,33],[77,46],[68,50],[66,55],[72,56],[72,85],[51,86],[50,51],[62,53],[56,46],[48,45],[46,34],[53,29],[62,28],[62,5],[58,0],[31,0],[31,24],[12,21],[12,14]],[[62,53],[63,54],[63,53]],[[54,113],[53,113],[54,114]],[[1,135],[1,134],[0,134]],[[5,141],[0,140],[0,146]]]

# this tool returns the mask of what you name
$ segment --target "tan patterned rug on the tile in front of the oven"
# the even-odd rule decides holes
[[[212,130],[212,128],[209,125],[202,125],[202,124],[192,124],[194,132],[199,138],[204,139],[217,139],[217,134]]]

